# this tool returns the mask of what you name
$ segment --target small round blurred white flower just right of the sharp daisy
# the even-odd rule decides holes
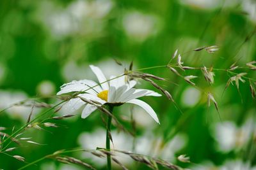
[[[193,107],[201,98],[200,90],[197,90],[195,87],[188,87],[184,90],[181,96],[181,102],[184,106]]]

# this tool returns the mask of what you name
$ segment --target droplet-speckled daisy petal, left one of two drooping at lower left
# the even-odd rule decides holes
[[[84,104],[81,99],[79,98],[74,98],[70,99],[67,103],[63,104],[61,110],[66,114],[71,114],[74,113],[74,111],[79,110]]]

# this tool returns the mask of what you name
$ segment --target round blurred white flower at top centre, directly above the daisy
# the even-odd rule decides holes
[[[159,18],[139,11],[127,13],[122,22],[125,34],[136,41],[144,41],[159,31]]]

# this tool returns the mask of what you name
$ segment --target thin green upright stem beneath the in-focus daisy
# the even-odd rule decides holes
[[[113,114],[113,106],[109,106],[109,112]],[[107,127],[107,131],[106,131],[106,150],[110,151],[110,139],[109,139],[109,135],[111,132],[111,120],[112,120],[112,116],[108,115],[108,127]],[[111,155],[107,155],[107,160],[108,160],[108,170],[111,170]]]

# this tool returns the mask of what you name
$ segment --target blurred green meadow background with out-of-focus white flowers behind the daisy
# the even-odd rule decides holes
[[[90,64],[99,66],[109,77],[122,73],[131,61],[135,68],[165,65],[176,49],[184,65],[191,67],[228,69],[234,62],[244,67],[256,59],[256,1],[253,0],[2,0],[0,23],[1,110],[29,97],[54,96],[60,85],[72,80],[95,80]],[[220,50],[193,52],[200,46],[211,45],[218,45]],[[123,66],[118,66],[114,59]],[[214,71],[213,85],[204,80],[200,70],[179,72],[184,76],[198,76],[193,81],[199,88],[192,87],[167,68],[145,70],[166,78],[167,81],[158,83],[173,95],[178,109],[164,96],[144,97],[156,111],[161,125],[134,108],[136,137],[118,133],[113,127],[115,147],[132,151],[124,143],[134,142],[134,152],[161,157],[191,169],[252,169],[256,164],[256,105],[248,79],[240,83],[241,95],[236,86],[230,85],[221,96],[232,76],[227,72]],[[242,68],[234,72],[247,72],[246,76],[255,82],[255,71]],[[140,82],[138,87],[156,90],[149,83]],[[213,103],[207,107],[205,92],[214,95],[222,121]],[[40,101],[58,103],[56,97]],[[34,112],[44,110],[36,108]],[[11,134],[13,127],[19,129],[26,123],[30,111],[31,107],[13,106],[0,113],[0,127],[6,127],[3,132]],[[132,131],[127,121],[129,105],[115,112]],[[58,128],[28,129],[22,137],[32,137],[31,140],[47,145],[12,144],[10,147],[18,148],[10,155],[20,155],[27,162],[33,162],[64,148],[104,147],[100,112],[85,120],[79,114],[67,120],[52,120],[60,125]],[[176,157],[181,154],[188,155],[193,163],[177,161]],[[99,163],[90,154],[74,153],[73,156],[106,169],[104,159]],[[129,158],[120,159],[129,169],[148,168]],[[0,169],[18,169],[25,164],[0,153]],[[80,167],[46,159],[28,169]]]

